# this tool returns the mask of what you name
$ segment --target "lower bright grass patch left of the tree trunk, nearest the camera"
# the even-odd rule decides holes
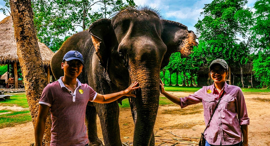
[[[13,127],[18,124],[28,123],[30,121],[32,121],[32,118],[29,110],[13,111],[8,114],[0,115],[0,129],[6,127]]]

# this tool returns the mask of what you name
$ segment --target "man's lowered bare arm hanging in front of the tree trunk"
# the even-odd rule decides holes
[[[50,107],[45,104],[39,104],[37,122],[35,125],[35,145],[42,146],[42,139],[45,131],[46,119]]]

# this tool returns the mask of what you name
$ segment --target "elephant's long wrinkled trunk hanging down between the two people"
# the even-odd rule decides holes
[[[130,70],[131,81],[139,82],[141,90],[136,91],[136,98],[131,102],[131,108],[134,112],[134,146],[154,145],[153,128],[159,103],[159,71],[158,62],[140,62],[140,67]]]

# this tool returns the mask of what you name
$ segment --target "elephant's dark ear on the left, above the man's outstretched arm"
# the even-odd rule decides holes
[[[89,27],[89,33],[100,64],[106,69],[110,55],[110,48],[115,41],[115,34],[111,26],[111,19],[99,19]]]

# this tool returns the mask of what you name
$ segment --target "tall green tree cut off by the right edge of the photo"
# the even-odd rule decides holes
[[[270,88],[270,1],[258,0],[254,4],[255,23],[251,28],[252,46],[258,51],[253,66],[261,86]]]

